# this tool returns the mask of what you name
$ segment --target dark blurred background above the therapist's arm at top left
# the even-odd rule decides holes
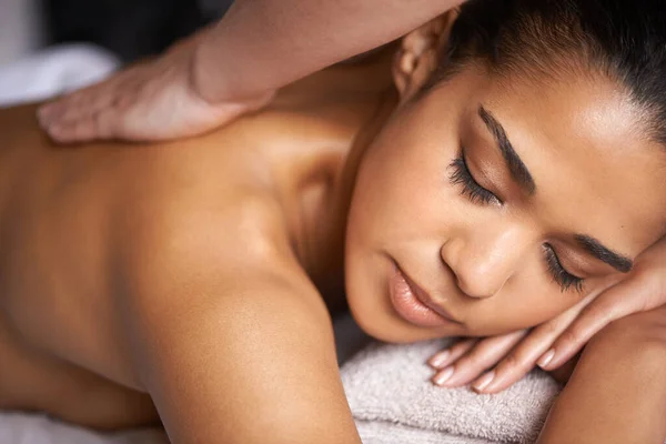
[[[34,50],[53,43],[89,42],[110,50],[123,62],[132,62],[159,53],[175,40],[218,20],[232,2],[0,0],[0,47],[11,56],[23,51],[11,48],[12,44]],[[0,61],[3,61],[2,48]]]

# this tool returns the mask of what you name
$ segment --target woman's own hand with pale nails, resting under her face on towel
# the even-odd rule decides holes
[[[666,238],[646,250],[619,283],[557,317],[529,331],[463,340],[437,353],[428,361],[437,371],[433,382],[446,387],[472,383],[477,392],[501,392],[536,365],[546,371],[562,367],[613,321],[665,304]]]

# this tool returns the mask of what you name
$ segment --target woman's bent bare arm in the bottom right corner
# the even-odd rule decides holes
[[[587,345],[538,444],[662,444],[666,309],[616,321]]]

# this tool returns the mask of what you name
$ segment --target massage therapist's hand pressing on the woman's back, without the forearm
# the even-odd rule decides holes
[[[170,140],[212,130],[270,101],[271,92],[235,102],[203,99],[192,81],[198,39],[43,105],[40,124],[59,143]]]

